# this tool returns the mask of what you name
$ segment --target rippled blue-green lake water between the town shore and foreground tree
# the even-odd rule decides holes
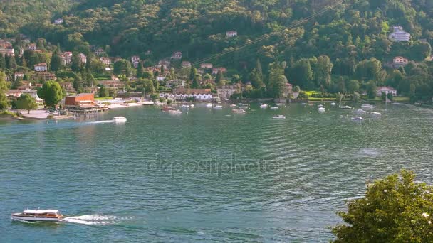
[[[380,106],[358,123],[325,107],[0,121],[0,242],[328,242],[367,180],[409,168],[433,183],[431,110]],[[115,116],[127,123],[93,123]],[[68,217],[10,220],[26,207]]]

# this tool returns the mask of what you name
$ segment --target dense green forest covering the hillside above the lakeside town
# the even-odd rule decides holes
[[[53,24],[56,18],[63,23]],[[390,40],[392,26],[411,40]],[[238,36],[227,38],[226,31]],[[428,0],[2,1],[0,34],[18,33],[63,50],[95,46],[110,56],[140,55],[148,65],[182,51],[182,60],[224,66],[257,90],[272,85],[269,71],[278,65],[302,89],[389,85],[424,98],[433,92]],[[389,68],[396,56],[409,63]]]

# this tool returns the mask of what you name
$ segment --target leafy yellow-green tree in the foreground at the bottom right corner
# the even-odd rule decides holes
[[[338,212],[334,242],[433,242],[433,187],[415,182],[411,171],[367,186],[364,198]]]

